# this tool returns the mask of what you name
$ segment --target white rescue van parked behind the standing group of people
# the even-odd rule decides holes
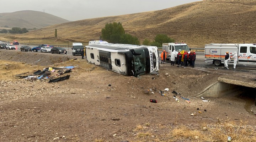
[[[166,53],[166,60],[169,60],[171,58],[172,51],[176,51],[178,54],[178,51],[188,51],[188,54],[190,54],[190,49],[188,48],[186,43],[163,43],[162,44],[162,51],[165,50]]]

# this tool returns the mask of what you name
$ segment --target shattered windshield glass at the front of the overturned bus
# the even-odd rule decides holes
[[[134,49],[136,53],[140,53],[141,55],[133,55],[134,56],[134,67],[135,67],[135,76],[146,74],[146,56],[144,49]]]

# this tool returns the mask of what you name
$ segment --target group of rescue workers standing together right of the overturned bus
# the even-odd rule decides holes
[[[171,66],[174,66],[175,58],[177,58],[178,66],[177,67],[187,67],[188,64],[190,64],[191,67],[194,67],[194,62],[196,61],[196,52],[190,51],[188,54],[188,51],[178,51],[178,54],[175,50],[172,51],[172,53],[169,55],[171,59]],[[161,53],[161,64],[164,63],[166,60],[166,53],[165,50]]]

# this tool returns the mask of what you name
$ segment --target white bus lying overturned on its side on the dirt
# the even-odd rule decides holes
[[[129,44],[92,44],[86,46],[87,61],[127,76],[159,71],[158,48]]]

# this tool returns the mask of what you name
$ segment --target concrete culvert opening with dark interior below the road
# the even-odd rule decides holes
[[[225,82],[218,82],[208,86],[203,92],[199,93],[199,97],[222,97],[224,95],[235,94],[235,97],[245,99],[248,105],[254,103],[256,106],[256,88],[247,87],[248,84],[238,85]],[[247,86],[246,86],[247,85]]]

